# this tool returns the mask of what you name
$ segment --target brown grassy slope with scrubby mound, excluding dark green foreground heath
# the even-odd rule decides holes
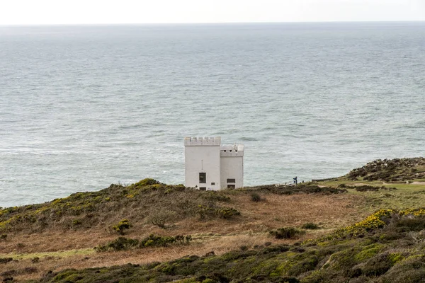
[[[253,192],[259,201],[252,200]],[[252,188],[202,192],[145,179],[128,186],[111,185],[98,192],[79,192],[45,204],[2,209],[0,236],[6,238],[0,238],[0,260],[12,261],[0,264],[0,277],[22,281],[67,267],[128,262],[142,265],[211,251],[221,255],[240,246],[292,243],[361,219],[356,214],[361,203],[358,197],[331,192],[341,190],[305,185],[289,195]],[[152,224],[158,218],[166,220],[165,229]],[[113,227],[127,223],[125,219],[131,224],[130,229],[123,230],[126,238],[142,241],[154,233],[191,235],[192,241],[187,246],[149,247],[142,251],[88,252],[123,236]],[[282,241],[268,236],[273,229],[301,227],[307,222],[317,223],[322,229],[307,231],[299,240]]]

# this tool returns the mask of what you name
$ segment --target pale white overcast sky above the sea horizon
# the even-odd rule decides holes
[[[0,0],[0,25],[425,21],[425,0]]]

